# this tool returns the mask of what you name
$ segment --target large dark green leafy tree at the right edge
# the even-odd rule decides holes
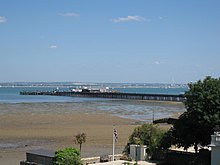
[[[206,77],[189,84],[186,112],[173,126],[174,143],[185,149],[210,144],[213,128],[220,124],[220,79]]]

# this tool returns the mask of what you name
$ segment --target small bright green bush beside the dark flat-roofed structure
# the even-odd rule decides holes
[[[54,165],[82,165],[80,152],[75,148],[65,148],[55,152]]]

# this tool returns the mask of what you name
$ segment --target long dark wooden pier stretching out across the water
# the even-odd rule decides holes
[[[170,94],[137,94],[137,93],[117,93],[117,92],[20,92],[21,95],[52,95],[52,96],[71,96],[71,97],[94,97],[109,99],[130,99],[130,100],[155,100],[155,101],[177,101],[183,102],[183,95]]]

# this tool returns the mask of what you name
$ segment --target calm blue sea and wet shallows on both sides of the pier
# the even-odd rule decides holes
[[[102,98],[82,98],[82,97],[64,97],[64,96],[30,96],[20,95],[20,91],[51,91],[57,87],[0,87],[0,104],[14,106],[14,111],[0,108],[0,115],[5,113],[17,113],[18,111],[35,111],[36,113],[54,111],[59,112],[59,106],[65,107],[63,111],[83,111],[85,113],[110,113],[124,118],[138,120],[150,120],[154,117],[168,117],[174,113],[184,112],[182,104],[170,104],[160,102],[134,101],[134,100],[112,100]],[[154,93],[154,94],[180,94],[187,88],[149,88],[149,87],[112,87],[113,90],[128,93]],[[59,90],[69,90],[69,87],[60,86]],[[44,103],[44,108],[39,108],[37,103]],[[25,108],[26,104],[33,104],[36,108]],[[23,108],[18,108],[18,107]],[[54,106],[56,108],[49,108]],[[64,112],[64,113],[65,113]],[[60,112],[59,112],[60,113]]]

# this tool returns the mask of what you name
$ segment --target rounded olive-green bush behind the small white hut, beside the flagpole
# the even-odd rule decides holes
[[[128,155],[130,144],[146,145],[148,147],[147,154],[152,157],[158,149],[163,148],[163,137],[167,132],[158,128],[157,125],[143,124],[134,129],[129,137],[127,146],[125,146],[124,153]]]

